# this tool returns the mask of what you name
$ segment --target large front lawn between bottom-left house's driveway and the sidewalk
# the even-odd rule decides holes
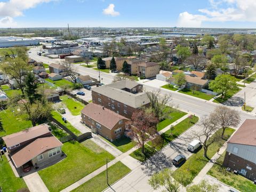
[[[114,156],[91,140],[66,142],[62,151],[67,155],[63,161],[38,171],[51,192],[60,191],[99,169],[106,164],[106,158],[114,159]]]

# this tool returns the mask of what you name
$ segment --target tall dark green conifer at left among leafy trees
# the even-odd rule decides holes
[[[37,93],[37,85],[38,84],[35,75],[29,72],[25,79],[24,92],[30,104],[41,98],[41,95]]]

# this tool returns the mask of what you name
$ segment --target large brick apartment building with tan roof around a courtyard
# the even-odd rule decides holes
[[[143,85],[129,80],[92,88],[92,102],[104,106],[126,118],[131,118],[134,111],[150,105]]]

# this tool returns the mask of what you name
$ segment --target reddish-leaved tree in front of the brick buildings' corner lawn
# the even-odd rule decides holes
[[[131,138],[139,143],[142,153],[145,155],[145,144],[155,137],[158,119],[154,113],[146,113],[143,110],[135,111],[127,125],[131,127],[128,133]],[[146,155],[145,155],[146,160]]]

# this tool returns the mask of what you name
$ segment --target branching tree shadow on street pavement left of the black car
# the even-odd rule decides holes
[[[162,151],[158,151],[155,155],[149,157],[145,162],[142,162],[142,171],[151,176],[156,172],[164,170],[172,166],[172,159],[167,157]]]

